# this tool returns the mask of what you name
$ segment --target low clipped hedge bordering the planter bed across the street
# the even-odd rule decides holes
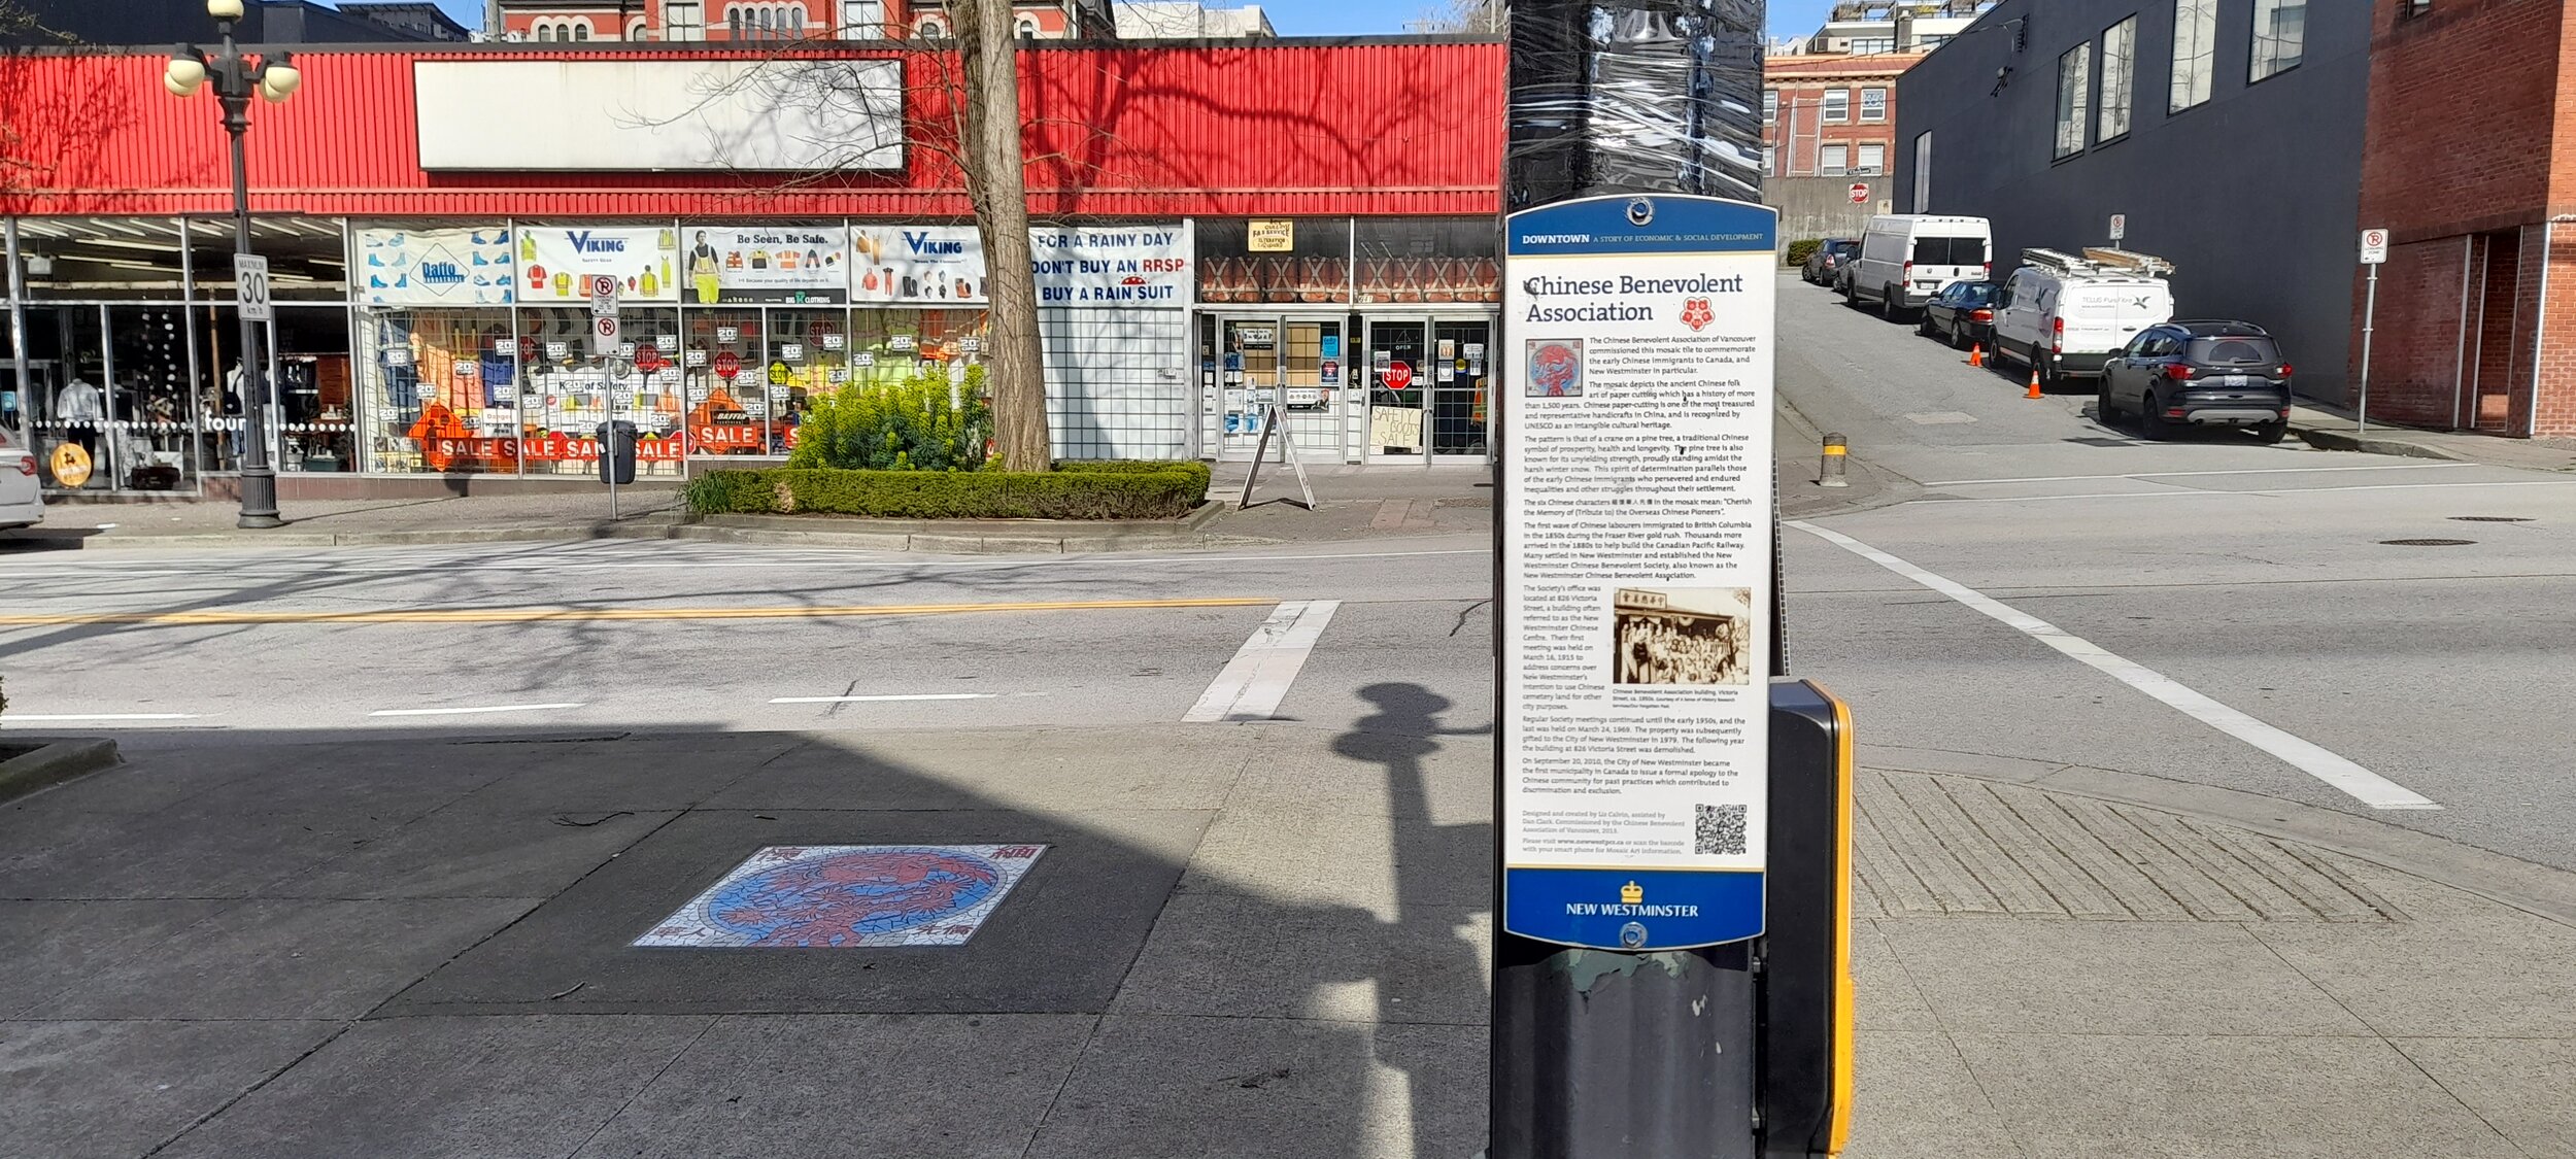
[[[894,520],[1170,520],[1208,497],[1208,464],[1059,464],[1012,471],[837,471],[773,466],[688,482],[698,515],[873,515]]]

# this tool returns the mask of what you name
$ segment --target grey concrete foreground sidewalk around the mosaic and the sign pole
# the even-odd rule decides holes
[[[1453,1159],[1492,749],[1298,724],[155,737],[0,809],[49,1156]],[[1852,1159],[2576,1154],[2576,876],[1865,749]],[[634,948],[765,847],[1033,842],[958,948]]]

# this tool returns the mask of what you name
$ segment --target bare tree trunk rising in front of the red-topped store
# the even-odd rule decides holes
[[[1038,281],[1028,268],[1028,173],[1020,149],[1020,41],[1010,0],[958,0],[958,54],[966,72],[961,116],[966,201],[984,234],[992,283],[994,453],[1005,471],[1046,471],[1046,348],[1038,340]]]

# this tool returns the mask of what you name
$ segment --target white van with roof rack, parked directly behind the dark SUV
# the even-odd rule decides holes
[[[2174,265],[2128,250],[2022,250],[1994,296],[1994,353],[2040,373],[2043,384],[2099,379],[2141,330],[2174,319]]]

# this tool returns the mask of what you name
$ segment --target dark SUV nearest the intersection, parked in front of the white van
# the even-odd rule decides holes
[[[2249,428],[2264,443],[2290,433],[2290,361],[2254,322],[2166,322],[2138,332],[2102,368],[2102,422],[2138,415],[2143,438],[2177,428]]]

